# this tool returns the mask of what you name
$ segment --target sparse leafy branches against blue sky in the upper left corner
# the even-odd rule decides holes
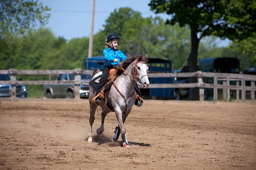
[[[0,39],[24,35],[38,23],[44,25],[50,16],[50,8],[34,0],[0,1]]]

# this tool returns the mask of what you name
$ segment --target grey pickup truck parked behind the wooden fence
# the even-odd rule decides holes
[[[58,74],[56,80],[69,81],[74,80],[75,74]],[[89,81],[90,74],[81,74],[81,80]],[[89,86],[80,85],[80,98],[89,97]],[[44,96],[46,98],[74,98],[75,97],[75,85],[74,84],[54,84],[44,85]]]

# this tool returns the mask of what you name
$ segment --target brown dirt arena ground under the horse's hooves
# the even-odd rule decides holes
[[[88,99],[0,99],[0,169],[256,169],[255,102],[146,100],[87,143]]]

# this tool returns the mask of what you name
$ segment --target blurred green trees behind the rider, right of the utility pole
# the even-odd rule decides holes
[[[143,18],[140,12],[131,8],[114,10],[104,27],[94,36],[93,55],[102,55],[106,36],[115,33],[121,37],[118,48],[131,55],[146,53],[149,57],[172,60],[175,69],[187,63],[185,58],[190,49],[188,27],[166,25],[159,17]]]

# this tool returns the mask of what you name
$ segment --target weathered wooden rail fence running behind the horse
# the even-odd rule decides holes
[[[22,75],[51,75],[51,74],[75,74],[75,79],[73,81],[17,81],[16,77],[19,74]],[[0,84],[11,84],[11,98],[16,96],[16,84],[25,85],[43,85],[43,84],[75,84],[75,98],[79,99],[80,84],[88,85],[88,81],[81,80],[81,74],[92,74],[92,70],[0,70],[0,74],[10,74],[10,81],[0,81]],[[225,100],[230,98],[230,90],[236,90],[236,100],[239,100],[239,91],[241,90],[242,101],[246,100],[246,91],[251,91],[251,100],[255,100],[255,82],[256,75],[249,74],[233,74],[233,73],[209,73],[209,72],[188,72],[188,73],[148,73],[149,78],[174,78],[174,77],[197,77],[197,83],[169,83],[169,84],[150,84],[148,88],[199,88],[199,100],[204,100],[204,89],[213,89],[213,100],[218,100],[218,89],[223,89],[223,97]],[[211,78],[213,83],[203,82],[203,79]],[[246,86],[245,82],[250,82],[251,86]],[[222,82],[222,84],[219,84]],[[235,85],[231,85],[230,82],[236,82]]]

